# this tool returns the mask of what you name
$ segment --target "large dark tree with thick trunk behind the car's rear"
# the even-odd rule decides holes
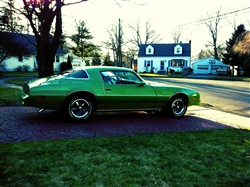
[[[14,7],[15,13],[27,18],[36,38],[38,74],[45,77],[54,74],[54,58],[62,39],[62,7],[87,0],[22,0],[22,7]],[[8,1],[6,0],[7,4]],[[53,32],[53,33],[52,33]]]

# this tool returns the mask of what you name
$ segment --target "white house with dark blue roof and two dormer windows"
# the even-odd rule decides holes
[[[137,71],[165,74],[181,72],[190,67],[191,41],[189,43],[142,44],[138,53]]]

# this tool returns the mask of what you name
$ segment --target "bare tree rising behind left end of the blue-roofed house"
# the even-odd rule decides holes
[[[145,23],[144,34],[140,28],[141,22],[139,19],[133,25],[129,25],[132,30],[132,38],[129,40],[130,43],[136,45],[139,49],[141,44],[151,44],[158,43],[161,41],[160,35],[157,34],[156,30],[153,28],[152,23],[148,20]],[[144,40],[142,39],[144,38]]]

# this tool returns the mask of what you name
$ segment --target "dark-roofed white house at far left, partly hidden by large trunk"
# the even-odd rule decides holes
[[[20,67],[29,67],[28,71],[36,71],[38,67],[38,63],[36,60],[36,46],[32,43],[36,43],[36,39],[34,35],[29,34],[16,34],[16,33],[8,33],[11,34],[14,38],[15,42],[21,43],[27,47],[30,51],[29,55],[19,55],[19,56],[11,56],[5,59],[0,64],[0,71],[17,71]],[[32,43],[31,43],[31,42]],[[54,60],[54,70],[60,71],[60,64],[65,61],[65,52],[59,47],[57,53],[55,55]]]

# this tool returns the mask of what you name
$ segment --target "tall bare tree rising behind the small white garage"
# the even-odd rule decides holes
[[[213,48],[213,56],[216,59],[219,59],[218,50],[222,48],[222,45],[218,45],[218,34],[220,31],[219,23],[221,21],[220,15],[221,9],[218,9],[215,13],[215,16],[208,15],[208,18],[201,18],[200,21],[208,28],[208,31],[212,37],[211,41],[208,41],[207,47]]]

